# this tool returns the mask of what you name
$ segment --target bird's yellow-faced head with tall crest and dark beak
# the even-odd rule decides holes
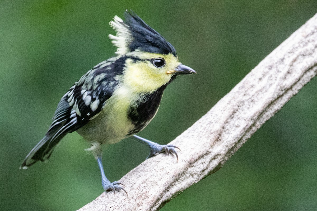
[[[152,92],[177,75],[196,73],[178,61],[175,48],[134,12],[124,13],[125,21],[114,16],[109,34],[116,54],[126,57],[121,80],[138,92]]]

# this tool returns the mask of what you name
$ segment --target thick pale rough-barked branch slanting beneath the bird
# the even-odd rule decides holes
[[[317,72],[317,14],[263,59],[206,115],[171,142],[179,161],[159,154],[80,211],[159,210],[223,164]]]

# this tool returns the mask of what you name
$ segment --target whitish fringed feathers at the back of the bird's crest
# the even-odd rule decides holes
[[[109,39],[112,40],[112,44],[117,47],[115,53],[120,55],[126,54],[129,51],[129,40],[132,39],[129,26],[118,16],[114,16],[113,21],[110,21],[109,24],[115,31],[117,31],[116,36],[109,34]]]

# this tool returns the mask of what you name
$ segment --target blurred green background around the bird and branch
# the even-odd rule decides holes
[[[102,193],[86,143],[67,135],[46,164],[19,170],[61,96],[113,56],[112,17],[133,9],[196,75],[179,77],[140,136],[165,144],[204,115],[317,12],[316,0],[0,1],[0,210],[76,210]],[[161,210],[316,210],[317,81],[263,125],[217,173]],[[104,148],[110,181],[140,164],[132,140]]]

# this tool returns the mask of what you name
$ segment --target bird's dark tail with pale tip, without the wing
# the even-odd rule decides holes
[[[20,169],[27,169],[30,165],[36,163],[39,160],[44,162],[49,159],[55,146],[66,134],[67,132],[55,137],[55,133],[51,133],[51,131],[46,133],[44,138],[26,156],[20,166]]]

